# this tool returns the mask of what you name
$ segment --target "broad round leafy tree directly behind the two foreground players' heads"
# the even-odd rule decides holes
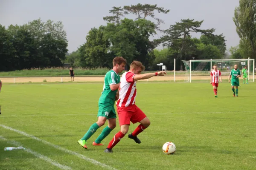
[[[134,21],[125,18],[118,25],[108,23],[105,32],[111,42],[110,51],[116,56],[125,57],[128,64],[137,59],[147,67],[152,57],[149,53],[155,48],[154,43],[149,40],[151,35],[156,34],[154,23],[144,19]]]

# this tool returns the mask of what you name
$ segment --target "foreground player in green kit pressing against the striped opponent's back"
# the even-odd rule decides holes
[[[104,78],[104,85],[102,95],[99,98],[98,121],[90,126],[89,130],[84,134],[78,144],[87,149],[87,139],[96,132],[99,127],[103,126],[108,119],[108,126],[102,130],[99,137],[93,141],[94,146],[101,146],[101,141],[108,136],[108,134],[116,127],[116,112],[114,103],[116,100],[116,93],[120,85],[120,76],[125,69],[126,60],[123,57],[115,57],[113,59],[113,69],[108,71]]]

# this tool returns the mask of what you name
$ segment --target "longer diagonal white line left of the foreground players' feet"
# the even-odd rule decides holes
[[[23,132],[23,131],[16,130],[16,129],[13,129],[12,127],[8,127],[8,126],[1,125],[1,124],[0,124],[0,126],[3,127],[3,128],[5,128],[5,129],[12,130],[12,131],[15,131],[15,132],[17,132],[17,133],[20,133],[20,134],[22,134],[22,135],[24,135],[24,136],[27,136],[27,137],[29,137],[29,138],[35,139],[35,140],[37,140],[37,141],[40,141],[40,142],[42,142],[42,143],[44,143],[44,144],[48,144],[48,145],[50,145],[50,146],[52,146],[52,147],[55,147],[55,148],[58,149],[58,150],[62,150],[62,151],[64,151],[64,152],[66,152],[66,153],[75,155],[75,156],[79,157],[80,159],[84,159],[85,161],[88,161],[88,162],[90,162],[90,163],[92,163],[92,164],[94,164],[94,165],[98,165],[98,166],[101,166],[101,167],[104,167],[104,168],[107,168],[107,169],[110,169],[110,170],[117,170],[117,169],[115,169],[115,168],[113,168],[113,167],[111,167],[111,166],[109,166],[109,165],[106,165],[106,164],[103,164],[103,163],[101,163],[101,162],[99,162],[99,161],[96,161],[96,160],[94,160],[94,159],[88,158],[88,157],[86,157],[86,156],[84,156],[84,155],[82,155],[82,154],[80,154],[80,153],[76,153],[76,152],[74,152],[74,151],[72,151],[72,150],[68,150],[68,149],[65,149],[65,148],[63,148],[63,147],[60,147],[60,146],[58,146],[58,145],[52,144],[52,143],[50,143],[50,142],[47,142],[47,141],[44,140],[44,139],[39,139],[39,138],[37,138],[37,137],[35,137],[35,136],[32,136],[32,135],[29,135],[29,134],[27,134],[27,133],[25,133],[25,132]]]

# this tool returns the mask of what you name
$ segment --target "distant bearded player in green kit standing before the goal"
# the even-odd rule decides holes
[[[234,69],[230,71],[230,76],[228,78],[228,82],[230,82],[231,79],[231,86],[233,91],[233,96],[238,97],[238,86],[239,86],[239,77],[241,77],[240,70],[237,69],[237,65],[234,66]],[[236,86],[236,93],[234,87]]]

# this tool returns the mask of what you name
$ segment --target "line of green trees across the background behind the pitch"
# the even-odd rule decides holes
[[[164,21],[156,15],[168,14],[169,11],[151,4],[114,6],[109,10],[110,15],[103,17],[106,25],[91,28],[85,37],[86,42],[71,53],[67,53],[68,41],[61,22],[38,19],[22,26],[10,25],[5,28],[0,25],[0,71],[58,67],[64,62],[73,67],[111,68],[112,59],[116,56],[124,57],[128,64],[134,59],[139,60],[147,70],[157,70],[157,63],[160,62],[172,70],[176,58],[176,69],[183,70],[181,60],[227,57],[225,37],[214,34],[214,28],[201,29],[203,20],[183,19],[163,30],[161,24]],[[239,12],[235,12],[234,18],[241,14],[241,8],[235,11]],[[129,19],[132,15],[136,18]],[[237,27],[241,25],[243,23]],[[163,36],[150,40],[157,32]],[[192,37],[193,33],[200,33],[201,37]],[[245,41],[247,45],[251,44],[248,38]],[[159,45],[164,48],[157,49]]]

